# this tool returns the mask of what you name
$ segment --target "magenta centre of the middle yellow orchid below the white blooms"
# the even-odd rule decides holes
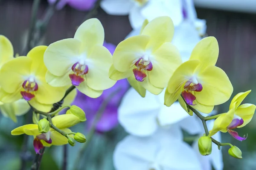
[[[146,61],[142,57],[140,57],[134,65],[137,68],[134,68],[132,71],[134,72],[135,79],[139,82],[143,82],[145,77],[147,77],[145,71],[151,71],[153,69],[152,62]]]

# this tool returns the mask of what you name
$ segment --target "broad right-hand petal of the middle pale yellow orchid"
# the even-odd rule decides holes
[[[178,49],[170,42],[164,43],[153,54],[152,71],[148,71],[149,81],[158,88],[166,88],[169,79],[182,63]]]

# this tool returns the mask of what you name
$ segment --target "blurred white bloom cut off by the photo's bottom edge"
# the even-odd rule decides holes
[[[113,154],[116,170],[203,170],[192,147],[174,135],[177,131],[174,127],[148,137],[125,137]]]

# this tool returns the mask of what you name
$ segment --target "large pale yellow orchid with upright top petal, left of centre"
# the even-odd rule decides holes
[[[71,83],[89,97],[99,97],[116,81],[108,77],[111,53],[103,45],[104,29],[96,18],[79,26],[74,38],[49,45],[44,53],[46,81],[54,87]]]

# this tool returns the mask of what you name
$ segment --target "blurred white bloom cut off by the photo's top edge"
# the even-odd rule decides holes
[[[145,19],[169,16],[175,26],[183,20],[182,0],[102,0],[101,7],[111,15],[129,15],[132,28],[140,28]]]

